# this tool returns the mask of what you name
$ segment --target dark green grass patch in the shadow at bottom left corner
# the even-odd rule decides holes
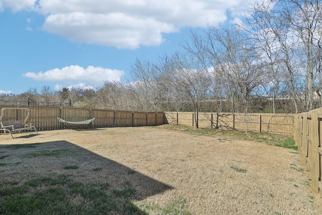
[[[130,183],[114,191],[109,183],[84,184],[71,175],[46,174],[22,185],[5,184],[0,214],[146,214],[132,203],[135,189]],[[74,196],[82,198],[73,202]]]

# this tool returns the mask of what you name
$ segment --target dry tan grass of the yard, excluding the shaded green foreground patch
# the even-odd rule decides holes
[[[310,192],[310,171],[296,151],[240,140],[229,131],[200,136],[158,126],[15,137],[0,135],[0,157],[9,155],[0,162],[10,164],[0,166],[3,181],[71,174],[83,183],[108,182],[107,192],[130,183],[136,189],[133,205],[146,214],[165,214],[175,204],[191,214],[322,214],[322,199]],[[44,144],[5,147],[35,143]],[[35,149],[64,156],[32,157]],[[78,169],[64,169],[67,165]],[[70,201],[77,204],[82,196]]]

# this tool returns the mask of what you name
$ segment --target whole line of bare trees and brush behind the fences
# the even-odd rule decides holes
[[[244,23],[228,28],[209,24],[207,30],[191,31],[180,51],[153,62],[137,59],[127,83],[61,91],[44,86],[12,99],[196,113],[293,113],[321,107],[321,1],[254,3]]]

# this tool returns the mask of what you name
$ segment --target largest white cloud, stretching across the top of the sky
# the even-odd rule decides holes
[[[12,2],[19,2],[14,4]],[[244,14],[253,0],[0,0],[0,8],[43,14],[42,29],[72,41],[118,48],[159,45],[182,27],[218,25]]]

